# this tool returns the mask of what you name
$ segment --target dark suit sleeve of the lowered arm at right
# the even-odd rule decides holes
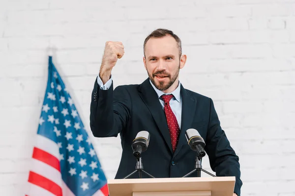
[[[209,156],[211,169],[216,172],[217,176],[236,176],[234,192],[240,196],[242,181],[240,180],[239,158],[220,126],[211,98],[205,150]]]

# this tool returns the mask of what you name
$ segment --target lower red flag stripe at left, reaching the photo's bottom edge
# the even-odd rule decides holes
[[[47,179],[46,177],[43,177],[42,175],[39,175],[38,173],[30,171],[28,181],[32,184],[42,187],[56,196],[62,196],[62,190],[58,184]]]

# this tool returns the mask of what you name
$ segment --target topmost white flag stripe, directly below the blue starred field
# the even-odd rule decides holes
[[[35,147],[52,154],[53,156],[59,158],[59,146],[54,141],[37,134],[37,144]]]

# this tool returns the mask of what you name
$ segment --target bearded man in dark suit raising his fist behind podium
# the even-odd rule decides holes
[[[122,157],[116,178],[134,171],[131,145],[142,130],[150,134],[148,150],[142,153],[146,172],[155,177],[182,177],[192,171],[196,153],[187,145],[185,131],[194,128],[205,140],[212,170],[217,176],[236,176],[234,196],[240,195],[238,156],[220,127],[212,99],[184,89],[178,81],[186,55],[177,35],[167,29],[153,31],[144,42],[148,79],[113,90],[111,72],[123,55],[122,43],[106,43],[90,105],[95,137],[120,134]]]

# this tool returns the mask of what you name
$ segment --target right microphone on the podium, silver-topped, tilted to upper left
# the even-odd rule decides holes
[[[199,157],[204,157],[206,155],[206,152],[204,150],[205,141],[196,129],[187,129],[185,132],[185,137],[190,148],[196,151]]]

